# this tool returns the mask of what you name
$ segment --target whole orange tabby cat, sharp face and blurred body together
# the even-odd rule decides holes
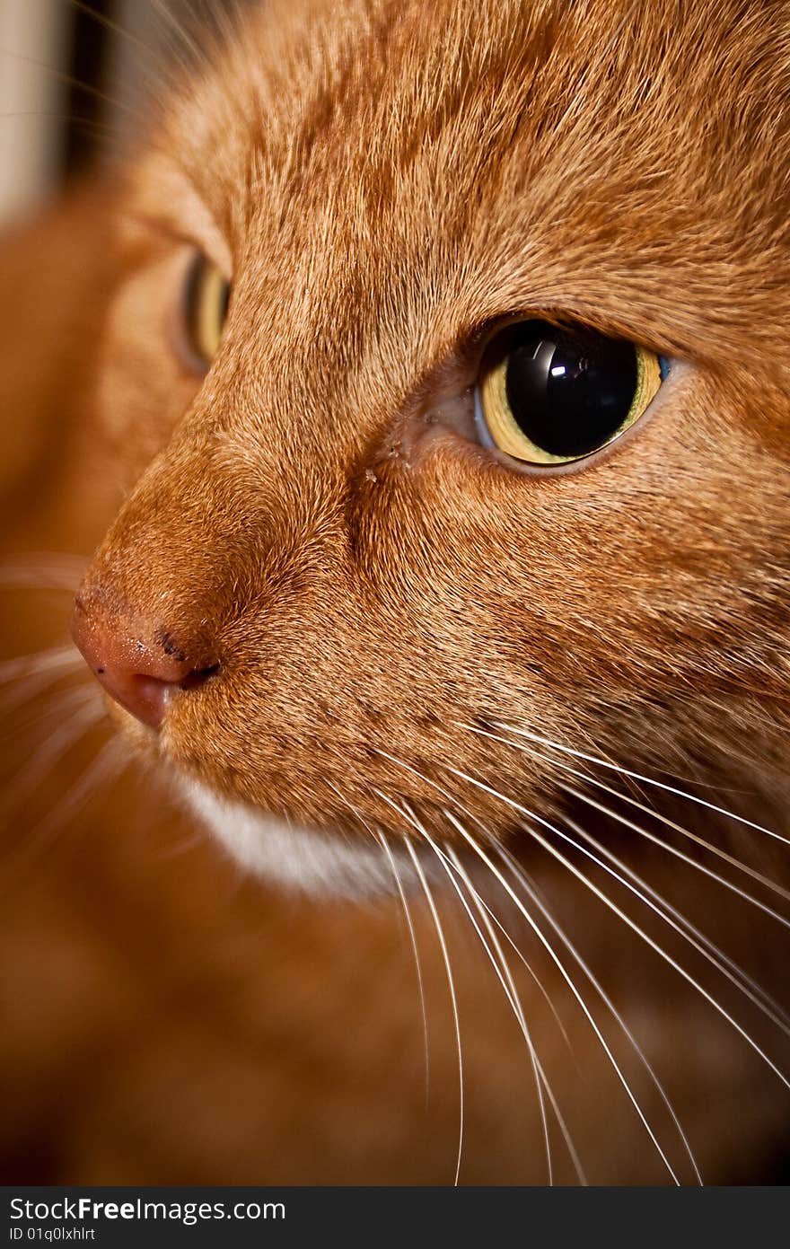
[[[125,493],[15,1178],[786,1177],[789,16],[253,4],[12,245],[7,547]]]

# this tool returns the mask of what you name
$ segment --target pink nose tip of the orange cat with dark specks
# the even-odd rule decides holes
[[[218,664],[195,668],[166,632],[156,633],[155,644],[147,646],[122,624],[107,626],[86,611],[79,597],[71,636],[107,693],[152,728],[160,728],[180,689],[201,686],[218,668]]]

